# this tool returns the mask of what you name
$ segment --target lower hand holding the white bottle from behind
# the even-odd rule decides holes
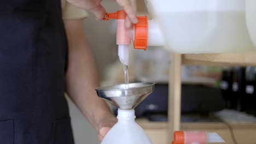
[[[98,124],[98,140],[101,142],[108,131],[117,123],[117,118],[113,115],[105,117],[100,124]]]

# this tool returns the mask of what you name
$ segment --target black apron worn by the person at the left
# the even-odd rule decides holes
[[[72,144],[60,0],[0,4],[0,143]]]

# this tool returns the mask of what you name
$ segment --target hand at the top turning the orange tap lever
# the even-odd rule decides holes
[[[67,0],[72,3],[75,7],[89,10],[96,16],[97,20],[102,20],[106,15],[106,9],[101,5],[102,0]],[[115,0],[112,0],[115,1]],[[125,26],[131,27],[131,24],[138,22],[136,13],[136,0],[116,0],[117,3],[125,10],[127,16],[125,19]]]

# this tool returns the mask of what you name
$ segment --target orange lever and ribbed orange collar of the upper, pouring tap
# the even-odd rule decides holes
[[[118,10],[117,13],[107,13],[103,18],[104,21],[109,19],[125,20],[126,13],[124,10]],[[134,26],[134,41],[135,49],[147,50],[148,46],[148,17],[137,16],[138,23]]]

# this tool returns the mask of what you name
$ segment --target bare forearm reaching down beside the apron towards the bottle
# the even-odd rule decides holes
[[[72,21],[77,21],[73,22]],[[75,27],[72,27],[75,23]],[[107,115],[112,115],[107,104],[97,97],[97,71],[92,52],[86,42],[81,20],[65,21],[69,54],[67,93],[88,121],[98,130],[98,125]],[[72,27],[72,28],[71,28]],[[81,31],[82,29],[82,31]]]

